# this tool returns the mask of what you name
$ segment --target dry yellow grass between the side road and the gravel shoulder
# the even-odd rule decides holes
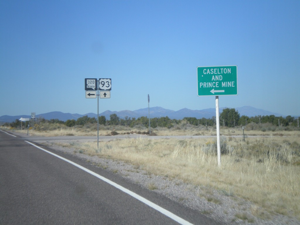
[[[294,215],[299,219],[300,154],[293,155],[295,151],[291,148],[297,140],[294,136],[260,137],[244,142],[241,138],[227,137],[230,153],[222,156],[221,168],[217,166],[216,155],[205,153],[214,138],[128,138],[101,141],[99,150],[96,142],[72,147],[88,155],[129,162],[149,173],[214,188],[247,199],[268,213]],[[256,216],[259,213],[253,210]]]

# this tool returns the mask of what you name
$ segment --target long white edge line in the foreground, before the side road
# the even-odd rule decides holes
[[[166,215],[167,217],[170,217],[171,219],[175,220],[176,222],[178,222],[178,223],[180,223],[180,224],[183,224],[183,225],[193,225],[192,223],[188,222],[187,220],[184,220],[184,219],[182,219],[181,217],[176,216],[175,214],[173,214],[172,212],[168,211],[167,209],[164,209],[164,208],[162,208],[161,206],[156,205],[155,203],[153,203],[153,202],[151,202],[151,201],[145,199],[144,197],[142,197],[142,196],[140,196],[140,195],[138,195],[138,194],[132,192],[131,190],[128,190],[127,188],[122,187],[121,185],[119,185],[119,184],[117,184],[117,183],[115,183],[115,182],[113,182],[113,181],[111,181],[111,180],[109,180],[109,179],[107,179],[107,178],[105,178],[105,177],[103,177],[103,176],[100,176],[99,174],[97,174],[97,173],[95,173],[95,172],[93,172],[93,171],[91,171],[91,170],[88,170],[87,168],[82,167],[82,166],[80,166],[79,164],[76,164],[76,163],[74,163],[74,162],[72,162],[72,161],[70,161],[70,160],[68,160],[68,159],[66,159],[66,158],[63,158],[63,157],[61,157],[61,156],[59,156],[59,155],[56,155],[56,154],[54,154],[54,153],[52,153],[52,152],[49,152],[49,151],[47,151],[46,149],[43,149],[43,148],[41,148],[41,147],[39,147],[39,146],[37,146],[37,145],[35,145],[35,144],[29,142],[29,141],[26,141],[26,142],[29,143],[29,144],[31,144],[31,145],[33,145],[33,146],[35,146],[35,147],[38,148],[38,149],[43,150],[44,152],[47,152],[47,153],[49,153],[49,154],[51,154],[51,155],[54,155],[55,157],[60,158],[60,159],[62,159],[62,160],[64,160],[64,161],[66,161],[66,162],[68,162],[68,163],[70,163],[70,164],[72,164],[72,165],[78,167],[78,168],[81,169],[81,170],[84,170],[85,172],[87,172],[87,173],[89,173],[89,174],[91,174],[91,175],[93,175],[93,176],[95,176],[95,177],[97,177],[97,178],[103,180],[104,182],[107,182],[108,184],[110,184],[110,185],[112,185],[112,186],[118,188],[119,190],[121,190],[121,191],[123,191],[123,192],[129,194],[130,196],[134,197],[135,199],[137,199],[137,200],[139,200],[139,201],[145,203],[146,205],[150,206],[151,208],[154,208],[155,210],[161,212],[162,214]]]

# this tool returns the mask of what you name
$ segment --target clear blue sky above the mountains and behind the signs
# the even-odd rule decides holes
[[[0,116],[215,107],[197,67],[237,65],[220,107],[300,115],[300,1],[0,0]]]

